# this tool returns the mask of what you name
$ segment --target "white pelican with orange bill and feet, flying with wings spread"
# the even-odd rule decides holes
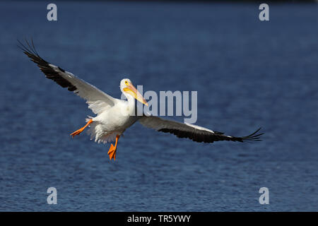
[[[120,82],[120,90],[126,96],[127,100],[119,100],[102,92],[98,88],[81,78],[78,78],[61,69],[59,66],[49,64],[49,62],[42,59],[34,47],[33,41],[23,45],[20,41],[19,47],[23,52],[33,61],[40,70],[45,73],[45,77],[52,79],[63,88],[76,93],[76,95],[86,100],[88,108],[93,111],[96,117],[89,117],[86,119],[86,125],[71,133],[72,137],[79,135],[86,127],[89,127],[88,133],[91,139],[95,139],[98,143],[115,142],[110,145],[108,155],[110,160],[116,160],[116,150],[119,137],[124,131],[129,128],[136,121],[139,121],[143,126],[146,126],[156,131],[163,133],[175,134],[178,138],[189,138],[192,141],[213,143],[214,141],[261,141],[260,136],[263,133],[258,133],[259,129],[249,136],[226,136],[224,133],[212,131],[201,126],[193,124],[183,124],[177,121],[170,121],[161,119],[155,116],[136,116],[135,100],[142,102],[148,106],[148,103],[141,93],[134,87],[128,78],[122,79]]]

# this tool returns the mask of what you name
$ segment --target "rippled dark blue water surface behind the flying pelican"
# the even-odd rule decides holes
[[[318,210],[317,4],[0,2],[1,211]],[[92,115],[16,47],[120,97],[197,90],[196,124],[259,143],[194,143],[132,126],[109,145],[69,133]],[[175,117],[183,121],[182,117]],[[57,188],[57,205],[47,188]],[[259,189],[269,189],[269,205]]]

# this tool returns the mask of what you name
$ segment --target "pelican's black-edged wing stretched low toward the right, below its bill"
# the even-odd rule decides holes
[[[259,132],[259,129],[249,136],[226,136],[223,133],[217,131],[211,131],[201,126],[192,124],[183,124],[178,121],[171,121],[161,119],[154,116],[143,116],[139,119],[139,122],[148,128],[155,129],[163,133],[173,133],[179,138],[189,138],[192,141],[213,143],[214,141],[261,141],[260,136],[263,133]]]

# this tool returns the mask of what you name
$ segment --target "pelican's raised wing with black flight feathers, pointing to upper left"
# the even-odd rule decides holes
[[[116,98],[107,95],[102,92],[94,85],[90,85],[83,81],[81,78],[78,78],[68,71],[64,71],[59,66],[49,64],[47,61],[42,59],[37,51],[35,50],[33,41],[31,44],[28,41],[26,42],[27,47],[18,41],[20,49],[33,61],[40,70],[45,73],[45,77],[52,79],[57,84],[61,85],[63,88],[67,88],[76,95],[82,97],[86,100],[88,108],[90,108],[95,114],[100,114],[101,112],[109,109],[114,106],[118,101]]]

